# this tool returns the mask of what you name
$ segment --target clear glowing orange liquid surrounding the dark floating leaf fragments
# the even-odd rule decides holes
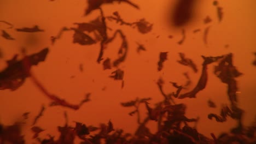
[[[246,111],[243,117],[243,124],[249,125],[255,118],[255,93],[256,93],[256,67],[252,65],[256,52],[256,10],[253,0],[248,1],[220,1],[223,7],[224,17],[222,22],[218,22],[216,7],[212,1],[197,0],[195,5],[195,17],[189,25],[181,28],[174,28],[167,25],[166,14],[168,9],[176,1],[134,1],[141,8],[137,10],[127,4],[107,4],[103,5],[106,16],[118,11],[120,16],[127,22],[137,21],[145,18],[153,23],[153,30],[148,34],[141,34],[137,29],[129,26],[120,26],[115,22],[107,21],[107,26],[115,29],[122,29],[127,37],[129,51],[124,63],[119,68],[125,71],[124,88],[121,89],[121,81],[114,81],[108,76],[115,69],[103,70],[102,64],[96,62],[100,43],[90,46],[81,46],[72,43],[73,32],[63,33],[61,39],[56,40],[51,45],[50,37],[57,35],[63,26],[75,27],[74,22],[89,22],[100,15],[98,10],[93,11],[89,16],[84,17],[86,1],[56,0],[32,1],[32,0],[0,0],[0,20],[13,23],[14,28],[32,27],[39,25],[45,32],[39,33],[19,33],[14,29],[7,29],[8,33],[16,40],[5,40],[0,38],[0,48],[3,58],[0,59],[0,68],[4,69],[7,65],[5,61],[20,53],[21,47],[26,47],[28,53],[35,53],[44,47],[50,48],[46,61],[33,67],[32,71],[40,82],[49,92],[58,95],[70,103],[78,104],[86,93],[91,93],[91,101],[85,103],[79,110],[74,111],[65,107],[54,106],[46,107],[44,116],[41,117],[36,125],[46,129],[40,133],[40,137],[47,134],[59,135],[57,126],[65,124],[63,112],[67,111],[69,124],[74,125],[73,121],[83,122],[86,125],[98,126],[100,123],[107,123],[109,119],[114,124],[114,128],[124,129],[126,132],[134,133],[138,124],[136,116],[129,116],[133,111],[131,107],[122,107],[121,102],[135,100],[136,97],[147,98],[150,106],[162,100],[163,97],[156,85],[159,77],[165,81],[164,91],[166,93],[176,91],[168,81],[184,84],[183,76],[188,72],[192,80],[192,85],[188,92],[194,88],[201,74],[202,58],[204,56],[218,56],[232,52],[234,54],[234,65],[243,73],[238,77],[237,97],[239,106]],[[209,15],[212,18],[210,24],[203,24],[203,19]],[[203,43],[203,29],[211,26],[208,34],[207,46]],[[0,23],[0,29],[5,29],[6,25]],[[177,41],[182,38],[181,29],[184,28],[186,38],[182,45]],[[201,31],[193,33],[194,29],[200,28]],[[112,35],[114,31],[108,31]],[[156,38],[158,37],[159,38]],[[173,35],[172,39],[168,35]],[[143,44],[147,51],[137,53],[137,44]],[[114,60],[118,57],[117,52],[121,39],[117,38],[107,46],[103,58],[109,57]],[[225,45],[229,47],[225,47]],[[157,71],[159,53],[168,52],[167,61],[164,62],[162,71]],[[185,56],[193,59],[199,69],[194,73],[189,67],[179,63],[178,52],[185,53]],[[20,57],[21,58],[21,57]],[[84,65],[84,71],[79,71],[79,64]],[[197,93],[196,99],[175,99],[176,103],[187,105],[186,116],[188,118],[200,117],[197,130],[210,137],[210,133],[218,135],[221,132],[229,131],[235,127],[236,122],[228,118],[227,122],[218,123],[207,118],[208,113],[220,112],[222,104],[229,104],[226,94],[227,86],[220,82],[218,77],[213,74],[213,67],[216,63],[208,67],[208,82],[203,91]],[[71,79],[71,76],[74,76]],[[102,91],[102,88],[106,88]],[[211,99],[217,104],[216,109],[208,107],[207,101]],[[8,125],[20,121],[24,112],[30,112],[30,118],[23,127],[27,143],[31,143],[31,123],[44,104],[47,106],[51,101],[43,93],[38,91],[30,78],[26,79],[24,85],[14,92],[9,90],[0,91],[0,122]],[[142,119],[147,116],[144,105],[141,106]],[[191,123],[193,125],[194,123]],[[148,123],[152,132],[156,131],[156,122]]]

